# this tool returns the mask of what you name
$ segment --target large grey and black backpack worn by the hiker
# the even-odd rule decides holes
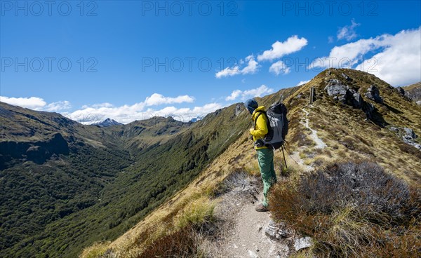
[[[255,124],[261,114],[267,117],[268,133],[263,138],[263,142],[272,149],[279,149],[285,142],[285,137],[288,134],[288,118],[286,114],[288,109],[280,102],[272,104],[267,111],[260,111],[255,118]]]

